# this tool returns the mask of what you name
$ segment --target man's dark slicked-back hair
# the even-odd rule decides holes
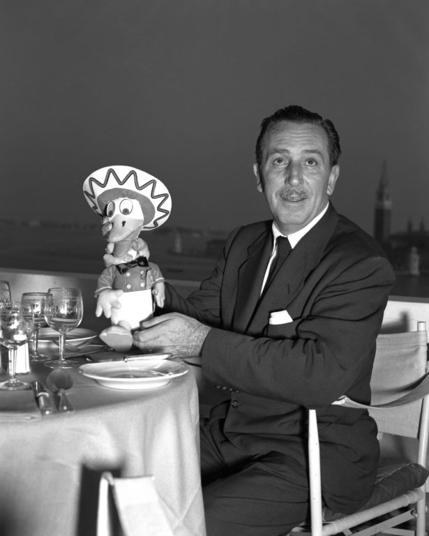
[[[312,123],[324,128],[328,136],[329,163],[331,167],[338,164],[341,154],[340,136],[336,131],[333,122],[330,119],[323,119],[322,116],[315,112],[310,112],[301,106],[290,105],[280,108],[269,117],[266,117],[261,123],[261,130],[256,140],[256,163],[259,170],[262,170],[262,154],[264,151],[264,137],[273,125],[289,121],[291,123]]]

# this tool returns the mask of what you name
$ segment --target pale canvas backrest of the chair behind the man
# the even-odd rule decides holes
[[[427,366],[426,322],[419,322],[416,332],[379,334],[371,377],[371,405],[390,402],[409,392],[426,374]],[[370,415],[380,432],[418,438],[422,405],[422,401],[416,401],[388,412],[370,409]]]

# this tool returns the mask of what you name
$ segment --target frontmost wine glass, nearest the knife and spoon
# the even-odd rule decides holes
[[[13,391],[15,389],[27,389],[28,382],[15,378],[17,349],[26,343],[31,331],[31,318],[24,313],[20,301],[9,301],[0,305],[0,342],[5,345],[9,352],[8,366],[9,378],[0,383],[0,389]]]

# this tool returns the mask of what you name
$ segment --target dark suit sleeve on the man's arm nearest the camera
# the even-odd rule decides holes
[[[329,405],[359,382],[369,385],[393,282],[389,261],[373,255],[347,265],[319,292],[310,314],[294,320],[294,336],[212,329],[202,349],[204,378],[308,408]]]

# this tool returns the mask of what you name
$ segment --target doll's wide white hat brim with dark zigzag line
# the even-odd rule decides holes
[[[149,173],[128,165],[110,165],[91,173],[84,181],[84,196],[100,216],[104,216],[110,201],[137,199],[144,215],[142,230],[163,225],[172,210],[172,198],[165,185]]]

